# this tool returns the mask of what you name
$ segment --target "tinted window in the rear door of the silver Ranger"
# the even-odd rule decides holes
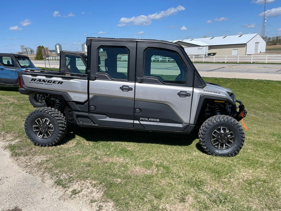
[[[99,49],[99,73],[107,73],[113,79],[128,78],[128,57],[127,48],[101,47]]]

